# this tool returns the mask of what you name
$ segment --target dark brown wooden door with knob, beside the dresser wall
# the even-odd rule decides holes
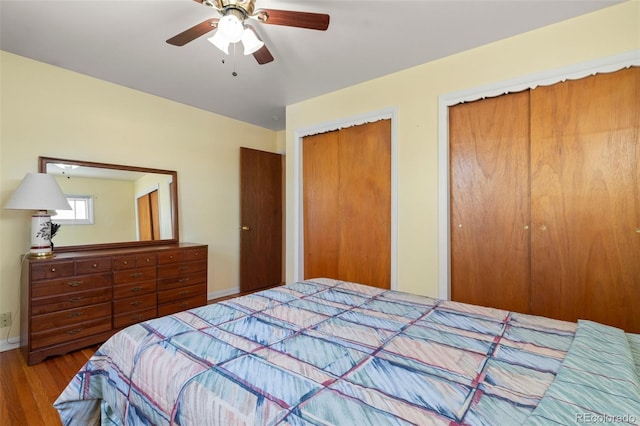
[[[240,292],[282,283],[283,156],[240,148]]]

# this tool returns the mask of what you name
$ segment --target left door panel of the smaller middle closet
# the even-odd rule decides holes
[[[307,136],[302,146],[304,278],[339,278],[338,131]]]

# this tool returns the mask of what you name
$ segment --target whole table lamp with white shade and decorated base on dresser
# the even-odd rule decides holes
[[[71,210],[71,206],[53,175],[27,173],[5,209],[37,210],[31,216],[31,249],[29,257],[48,259],[51,249],[51,215],[49,210]]]

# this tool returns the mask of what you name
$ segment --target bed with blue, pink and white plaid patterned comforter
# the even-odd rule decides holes
[[[55,401],[65,425],[640,422],[640,335],[315,279],[142,322]]]

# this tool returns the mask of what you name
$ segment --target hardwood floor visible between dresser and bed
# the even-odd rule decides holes
[[[0,423],[61,424],[53,402],[98,346],[28,366],[19,349],[0,352]]]

